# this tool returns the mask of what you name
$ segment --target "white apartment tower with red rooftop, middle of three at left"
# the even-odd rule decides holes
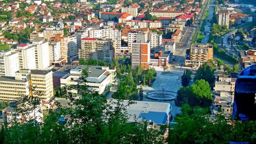
[[[36,69],[35,47],[20,44],[12,52],[18,52],[20,69]]]

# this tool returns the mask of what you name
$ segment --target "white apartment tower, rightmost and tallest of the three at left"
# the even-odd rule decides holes
[[[30,43],[35,47],[36,69],[45,69],[50,66],[49,44],[45,37],[36,37]]]

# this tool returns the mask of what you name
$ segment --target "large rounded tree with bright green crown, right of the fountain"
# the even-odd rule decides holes
[[[211,88],[207,81],[196,80],[195,84],[188,87],[180,87],[177,91],[175,105],[189,104],[192,107],[208,107],[212,104]]]

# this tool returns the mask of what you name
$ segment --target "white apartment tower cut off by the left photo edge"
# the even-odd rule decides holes
[[[14,76],[19,70],[19,55],[11,51],[0,52],[0,76]]]

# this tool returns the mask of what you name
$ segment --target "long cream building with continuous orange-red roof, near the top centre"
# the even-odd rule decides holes
[[[154,10],[151,11],[150,14],[152,16],[156,16],[156,17],[176,17],[180,14],[184,14],[182,11],[161,11],[161,10]]]

